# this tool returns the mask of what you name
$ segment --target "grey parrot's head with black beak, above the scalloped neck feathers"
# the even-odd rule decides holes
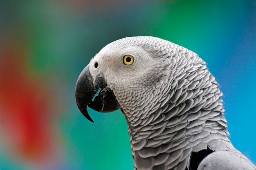
[[[92,122],[88,107],[102,113],[122,108],[131,122],[148,117],[168,101],[164,97],[192,60],[204,64],[192,51],[160,38],[117,40],[101,49],[79,75],[77,106]]]

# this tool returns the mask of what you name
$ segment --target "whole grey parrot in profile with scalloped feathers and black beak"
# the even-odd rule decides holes
[[[142,36],[112,42],[83,69],[75,95],[92,122],[88,107],[121,109],[135,170],[256,170],[228,138],[216,79],[182,46]]]

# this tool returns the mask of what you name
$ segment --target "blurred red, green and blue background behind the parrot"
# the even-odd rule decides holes
[[[76,107],[106,44],[150,35],[200,55],[224,93],[231,141],[256,162],[255,0],[0,0],[0,169],[132,170],[124,116]]]

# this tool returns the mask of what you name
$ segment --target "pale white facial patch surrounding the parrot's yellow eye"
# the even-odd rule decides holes
[[[106,82],[112,86],[117,84],[131,84],[132,81],[143,79],[146,70],[153,64],[154,58],[141,48],[127,46],[122,48],[104,47],[90,62],[92,76],[102,75]],[[131,55],[134,62],[131,65],[124,64],[123,57]],[[97,68],[94,67],[98,63]]]

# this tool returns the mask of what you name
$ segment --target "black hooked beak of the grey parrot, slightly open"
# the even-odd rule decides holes
[[[94,95],[101,88],[99,94]],[[80,73],[76,82],[76,104],[86,119],[94,122],[88,114],[87,108],[90,107],[98,112],[112,112],[121,108],[113,91],[107,86],[105,79],[97,75],[94,79],[90,73],[89,64]]]

